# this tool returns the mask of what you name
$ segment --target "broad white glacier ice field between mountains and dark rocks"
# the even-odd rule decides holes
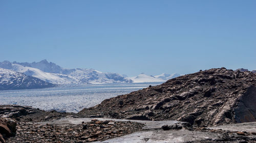
[[[131,93],[160,83],[63,85],[36,90],[0,91],[0,104],[27,105],[44,110],[78,112],[104,99]]]

